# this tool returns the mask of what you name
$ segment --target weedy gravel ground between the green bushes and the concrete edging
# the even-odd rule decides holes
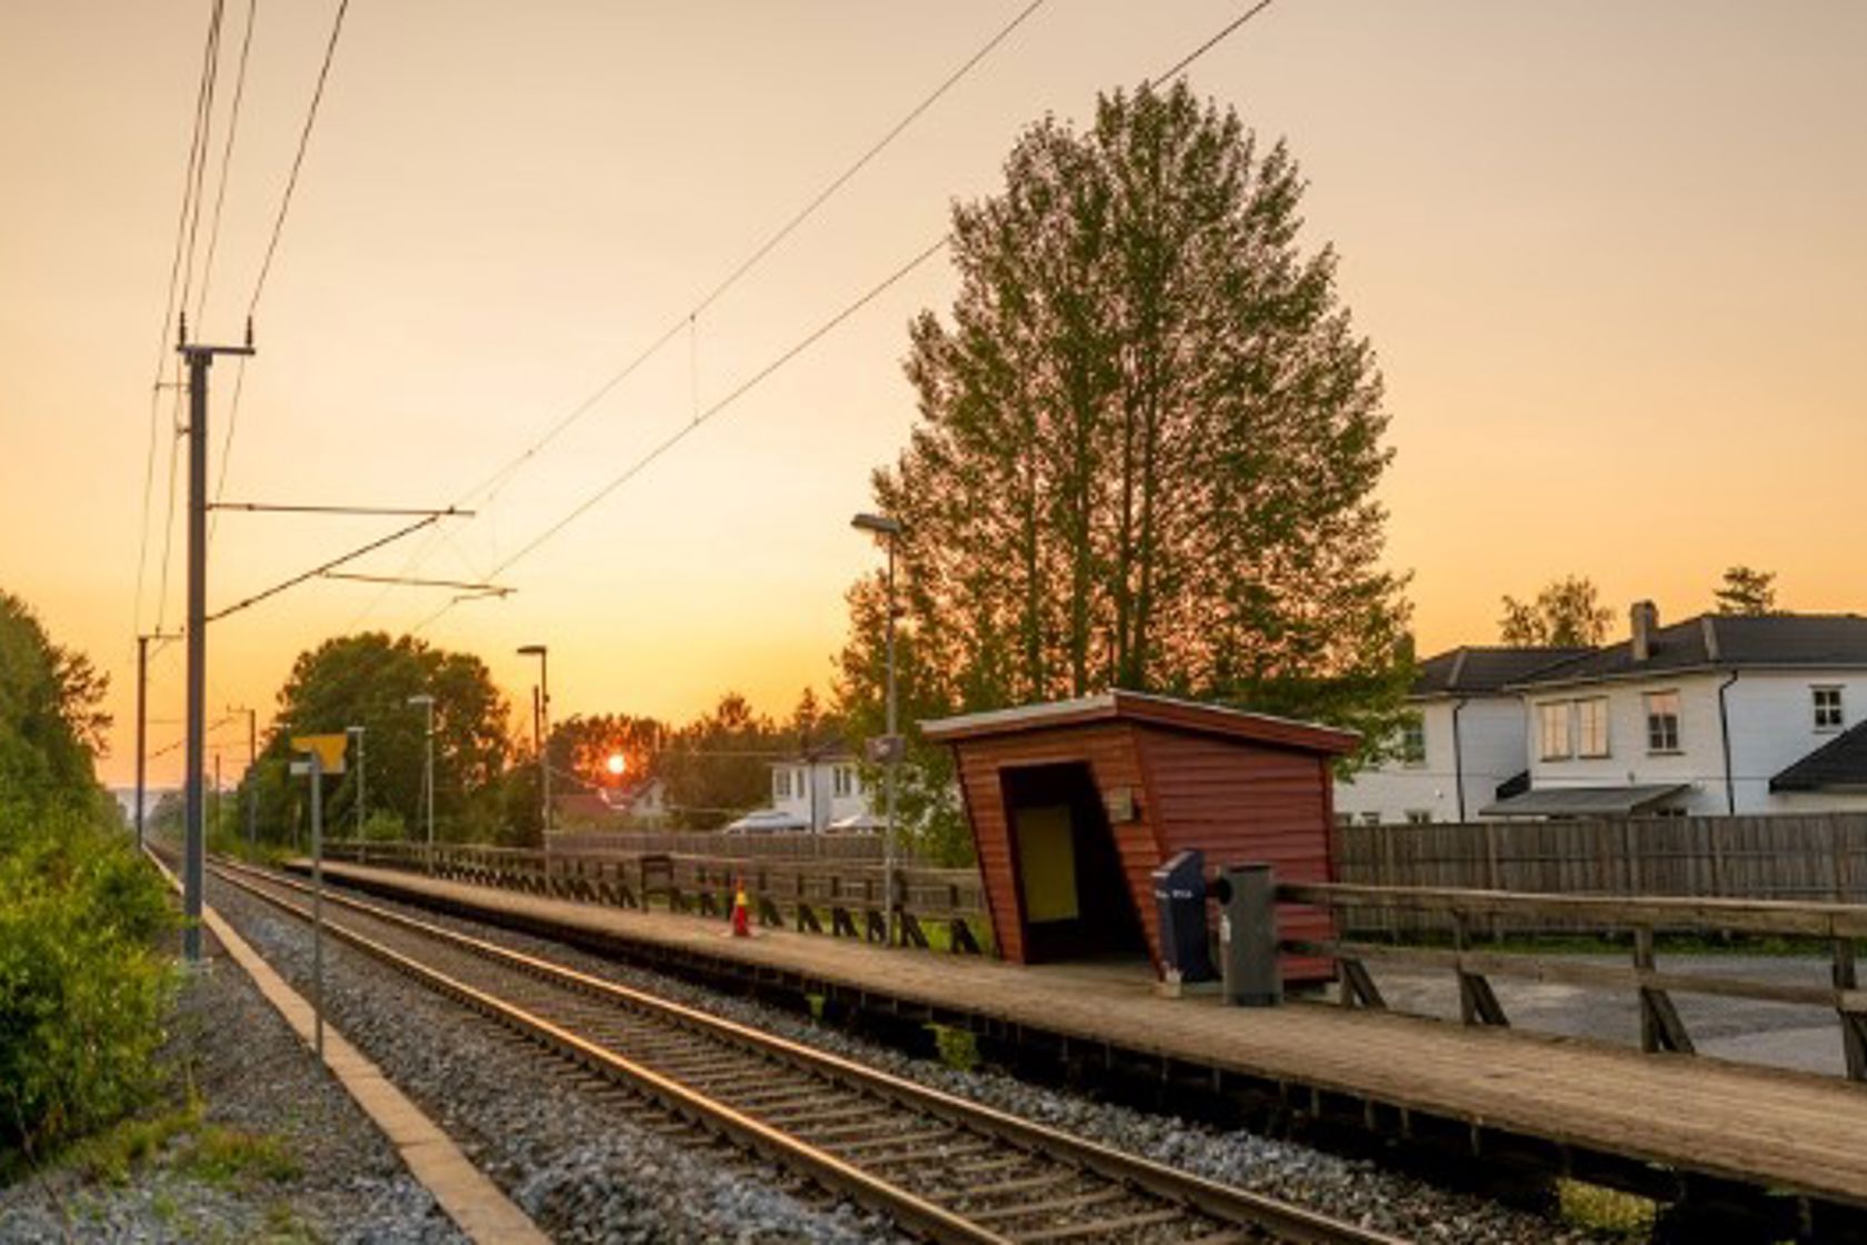
[[[0,1189],[0,1243],[465,1238],[252,980],[205,939],[162,1053],[183,1127],[121,1178],[77,1154]]]

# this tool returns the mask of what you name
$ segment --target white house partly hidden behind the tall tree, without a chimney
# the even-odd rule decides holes
[[[1408,692],[1419,715],[1398,756],[1335,784],[1339,821],[1471,821],[1525,782],[1523,702],[1507,685],[1587,648],[1466,646],[1428,657]]]

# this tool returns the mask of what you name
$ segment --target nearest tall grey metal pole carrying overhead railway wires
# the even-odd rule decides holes
[[[245,345],[198,345],[189,342],[189,317],[181,315],[175,349],[189,362],[189,747],[185,778],[187,847],[181,870],[181,954],[202,959],[202,890],[205,885],[207,825],[202,804],[202,765],[207,745],[207,370],[215,355],[252,355],[252,321]]]

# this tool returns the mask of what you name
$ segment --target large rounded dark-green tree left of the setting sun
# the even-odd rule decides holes
[[[500,840],[502,778],[512,754],[510,707],[485,663],[413,636],[381,631],[336,636],[299,653],[278,692],[278,711],[260,765],[260,823],[271,838],[302,832],[304,778],[289,776],[291,737],[364,728],[366,814],[386,810],[411,832],[426,829],[422,767],[426,715],[411,696],[435,698],[435,834],[444,840]],[[325,790],[329,827],[355,825],[355,745],[342,778]]]

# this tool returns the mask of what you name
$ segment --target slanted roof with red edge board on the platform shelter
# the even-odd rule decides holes
[[[1077,700],[1051,700],[1046,704],[1018,706],[1016,709],[943,717],[920,722],[920,730],[928,739],[958,743],[960,739],[976,739],[982,735],[1010,735],[1113,720],[1171,726],[1206,735],[1227,735],[1253,743],[1327,752],[1331,756],[1352,752],[1361,741],[1361,735],[1352,730],[1124,689],[1113,689],[1098,696],[1081,696]]]

